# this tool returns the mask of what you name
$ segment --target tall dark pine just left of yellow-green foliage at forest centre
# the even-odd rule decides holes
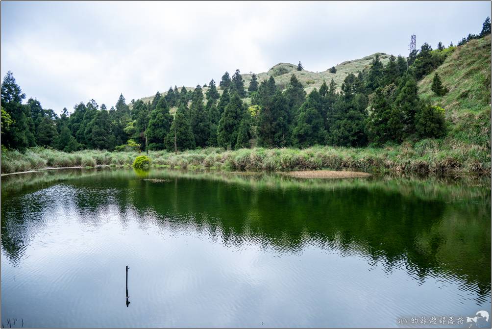
[[[238,138],[239,126],[244,118],[246,109],[237,93],[231,96],[225,106],[217,129],[217,142],[220,147],[234,149]]]

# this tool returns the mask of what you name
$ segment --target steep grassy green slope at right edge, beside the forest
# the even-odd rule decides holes
[[[444,96],[431,91],[434,73],[449,89]],[[444,63],[419,83],[419,95],[445,109],[450,137],[467,144],[491,147],[491,35],[457,47]]]

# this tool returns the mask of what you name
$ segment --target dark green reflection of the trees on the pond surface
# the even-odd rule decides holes
[[[66,201],[77,209],[80,220],[92,218],[96,226],[96,214],[112,205],[122,221],[129,211],[139,220],[153,214],[171,230],[192,229],[212,238],[220,236],[228,245],[258,243],[285,253],[312,244],[341,255],[366,257],[370,264],[383,263],[386,271],[405,262],[417,279],[451,274],[481,296],[490,294],[488,186],[467,190],[449,185],[450,200],[443,199],[447,185],[439,182],[432,186],[432,182],[401,180],[399,186],[398,180],[319,183],[246,177],[228,181],[174,173],[165,174],[171,178],[165,182],[153,182],[121,172],[66,181],[71,189]],[[23,214],[42,214],[49,202],[28,206],[8,202],[3,195],[2,191],[2,247],[15,259],[29,233],[23,221],[31,220],[31,215]],[[6,202],[8,210],[3,207]]]

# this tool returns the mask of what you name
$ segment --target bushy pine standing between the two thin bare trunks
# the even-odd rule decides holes
[[[149,117],[147,138],[150,150],[163,150],[164,138],[170,131],[173,116],[169,114],[169,107],[164,97],[161,97]]]

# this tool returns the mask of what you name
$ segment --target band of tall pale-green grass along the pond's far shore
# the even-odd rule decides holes
[[[2,151],[1,172],[12,173],[44,167],[131,165],[137,152],[84,150],[65,153],[31,148],[26,152]],[[150,151],[153,165],[222,170],[333,170],[485,173],[491,171],[490,146],[466,143],[454,137],[425,139],[381,148],[313,146],[306,149],[253,148],[235,151],[210,147],[184,152]]]

